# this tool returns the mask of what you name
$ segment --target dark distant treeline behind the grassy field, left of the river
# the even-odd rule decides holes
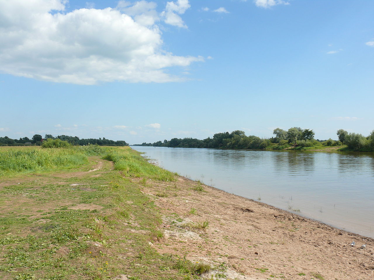
[[[62,141],[67,141],[69,144],[74,146],[86,146],[89,144],[97,144],[99,146],[128,146],[129,144],[125,141],[113,141],[105,139],[105,137],[99,139],[79,139],[77,136],[67,136],[59,135],[52,136],[51,134],[46,134],[43,138],[40,134],[35,134],[31,139],[28,137],[23,137],[19,139],[11,139],[7,136],[0,137],[0,146],[29,146],[36,145],[40,146],[42,142],[46,139],[61,139]]]

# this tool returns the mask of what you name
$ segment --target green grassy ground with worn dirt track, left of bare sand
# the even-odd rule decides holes
[[[154,249],[162,221],[142,185],[175,174],[129,147],[6,147],[0,162],[0,279],[194,279],[204,269]]]

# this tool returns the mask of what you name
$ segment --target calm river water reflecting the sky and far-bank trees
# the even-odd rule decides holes
[[[374,154],[137,147],[229,193],[374,237]]]

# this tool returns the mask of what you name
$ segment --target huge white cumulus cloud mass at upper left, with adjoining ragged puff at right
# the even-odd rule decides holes
[[[156,21],[186,27],[188,0],[167,2],[159,16],[153,2],[65,12],[66,0],[0,0],[0,71],[58,83],[128,81],[164,83],[165,72],[203,61],[162,50]],[[174,68],[173,68],[174,69]]]

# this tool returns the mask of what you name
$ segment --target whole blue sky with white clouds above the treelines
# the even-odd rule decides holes
[[[374,129],[374,1],[0,0],[0,137]]]

